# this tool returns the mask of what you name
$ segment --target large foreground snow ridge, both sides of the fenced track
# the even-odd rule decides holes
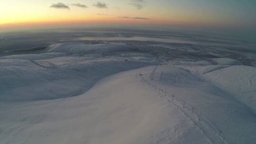
[[[154,67],[104,78],[88,92],[72,98],[2,102],[1,142],[218,144],[221,141],[208,125],[198,121],[197,115],[143,84],[135,76],[139,73],[178,99],[186,98],[187,104],[201,108],[202,116],[209,118],[222,136],[227,135],[228,144],[253,144],[256,140],[252,135],[256,132],[255,114],[245,105],[179,67],[159,66],[155,80],[151,81],[149,75]],[[159,72],[163,72],[161,79]]]

